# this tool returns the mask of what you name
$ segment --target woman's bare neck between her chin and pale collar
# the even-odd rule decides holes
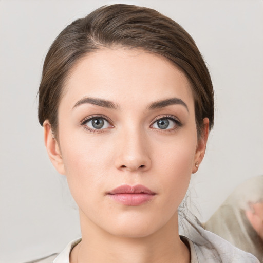
[[[72,250],[70,263],[190,262],[190,252],[178,234],[178,214],[145,237],[112,235],[87,220],[80,211],[82,241]],[[85,219],[85,220],[84,220]]]

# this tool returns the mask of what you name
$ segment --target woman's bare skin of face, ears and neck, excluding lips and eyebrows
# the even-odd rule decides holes
[[[108,100],[117,108],[75,106],[83,98]],[[149,109],[170,98],[186,106]],[[88,130],[91,121],[83,120],[98,115],[109,124]],[[176,122],[168,120],[167,129],[159,128],[157,119],[167,116]],[[198,170],[195,163],[203,159],[209,120],[204,119],[198,140],[193,95],[181,70],[143,50],[88,54],[70,73],[58,119],[57,139],[45,121],[45,144],[79,206],[82,241],[70,262],[190,262],[178,234],[177,209]],[[155,196],[129,206],[106,195],[122,184],[142,184]]]

